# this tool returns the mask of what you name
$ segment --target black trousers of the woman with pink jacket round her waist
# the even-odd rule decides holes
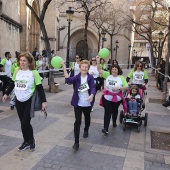
[[[121,101],[112,102],[108,101],[103,97],[103,105],[104,105],[104,129],[108,131],[110,118],[112,116],[113,122],[116,122],[118,115],[118,108]]]

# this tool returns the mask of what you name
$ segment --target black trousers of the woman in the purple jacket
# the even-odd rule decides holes
[[[85,119],[84,131],[89,130],[90,112],[91,112],[91,106],[89,106],[89,107],[77,106],[77,108],[74,107],[74,113],[75,113],[75,122],[74,122],[75,143],[79,143],[79,134],[80,134],[80,125],[81,125],[82,113],[84,114],[84,119]]]

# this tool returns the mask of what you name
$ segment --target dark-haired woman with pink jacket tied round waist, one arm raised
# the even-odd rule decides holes
[[[127,111],[127,105],[122,91],[128,89],[128,84],[126,79],[122,76],[123,72],[119,65],[112,65],[110,72],[107,72],[100,69],[99,58],[97,64],[100,75],[106,79],[106,87],[103,90],[100,105],[104,107],[105,111],[104,129],[102,129],[102,132],[108,134],[111,116],[113,118],[113,127],[117,126],[116,120],[120,103],[123,105],[124,112]]]

